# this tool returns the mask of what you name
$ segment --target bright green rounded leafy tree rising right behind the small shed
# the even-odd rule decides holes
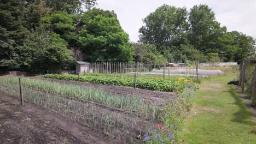
[[[92,11],[94,10],[96,9]],[[84,15],[88,16],[91,13],[88,10]],[[121,28],[116,17],[96,15],[92,19],[84,19],[83,23],[85,25],[79,32],[78,41],[88,56],[87,61],[132,60],[133,47],[129,43],[129,35]]]

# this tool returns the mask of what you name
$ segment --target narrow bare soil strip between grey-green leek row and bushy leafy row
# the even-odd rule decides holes
[[[172,92],[159,92],[159,91],[150,91],[147,89],[140,89],[140,88],[132,88],[132,87],[122,87],[122,86],[107,86],[107,85],[99,85],[95,83],[88,83],[88,82],[77,82],[77,81],[66,81],[66,80],[57,80],[57,79],[44,79],[40,77],[33,77],[34,79],[41,79],[41,80],[48,80],[48,81],[54,81],[59,83],[69,83],[73,85],[79,85],[84,87],[90,87],[90,88],[101,88],[104,89],[104,91],[113,93],[113,94],[120,94],[124,96],[136,96],[141,97],[146,100],[155,100],[155,99],[163,99],[166,97],[170,97],[171,94],[174,94]]]

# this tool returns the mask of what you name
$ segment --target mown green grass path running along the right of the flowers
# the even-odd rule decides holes
[[[228,74],[201,84],[193,110],[184,123],[184,143],[256,143],[253,113],[227,85]]]

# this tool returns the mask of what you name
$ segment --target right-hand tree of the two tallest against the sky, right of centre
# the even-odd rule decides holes
[[[203,53],[220,52],[216,41],[225,33],[226,28],[220,27],[219,22],[215,19],[215,14],[208,5],[200,4],[191,8],[188,22],[189,43],[195,49],[201,50]]]

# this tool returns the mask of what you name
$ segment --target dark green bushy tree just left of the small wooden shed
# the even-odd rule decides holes
[[[33,73],[43,70],[58,71],[67,69],[73,62],[67,42],[59,34],[53,33],[49,38],[44,31],[31,32],[18,52],[22,62],[21,69]]]

